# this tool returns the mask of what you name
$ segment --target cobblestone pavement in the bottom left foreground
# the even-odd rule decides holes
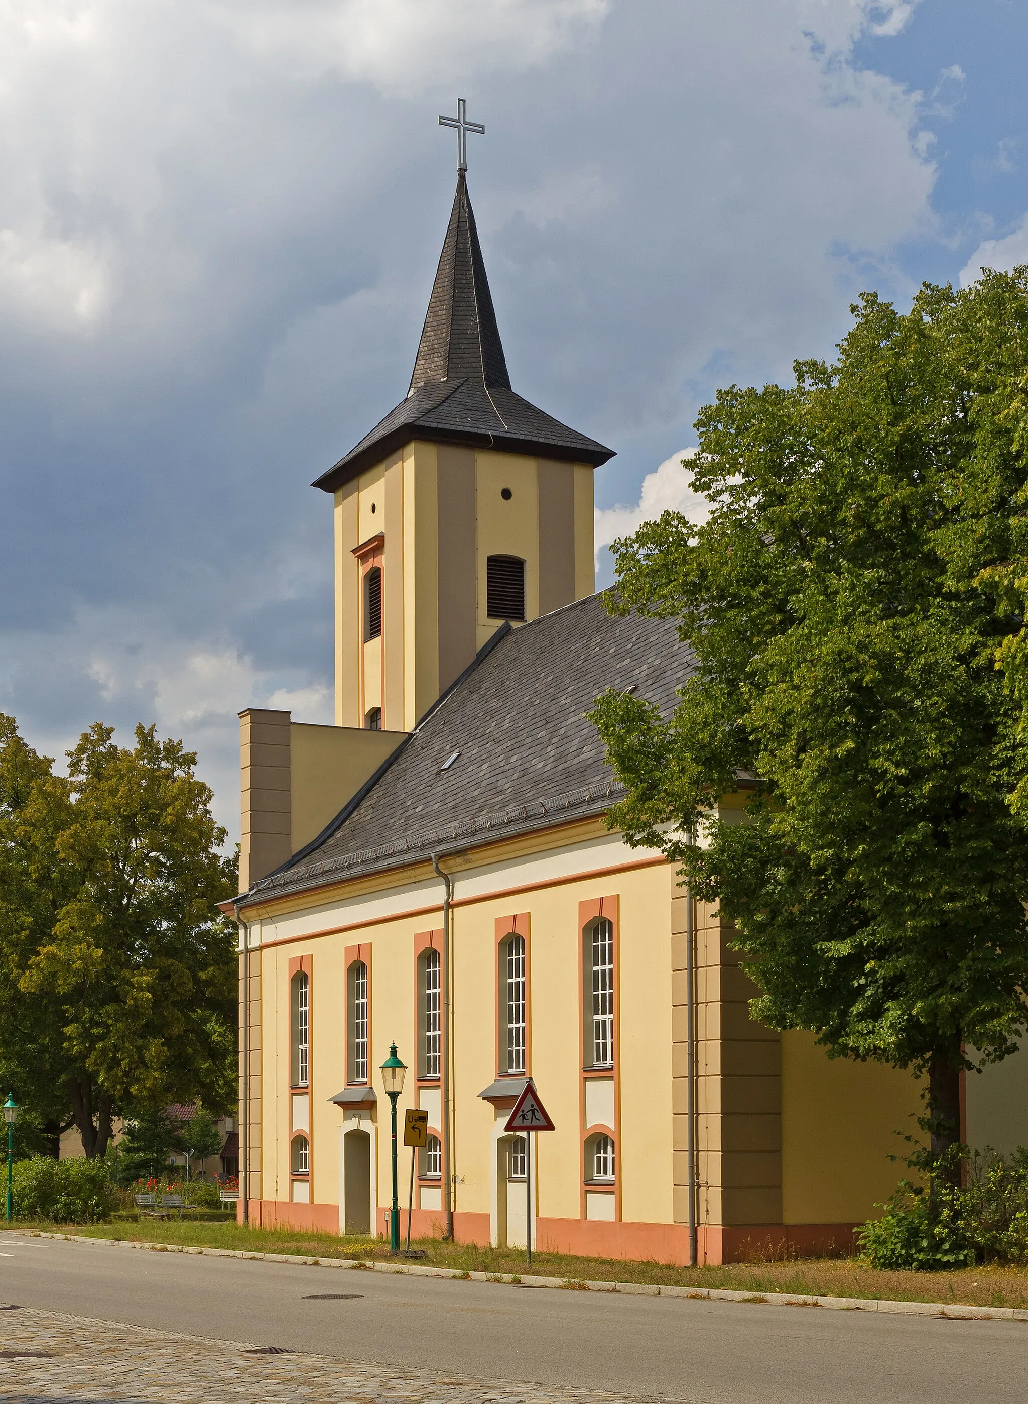
[[[272,1348],[273,1351],[273,1348]],[[243,1341],[0,1307],[0,1400],[43,1404],[609,1404],[630,1398],[590,1390],[436,1375],[338,1360]]]

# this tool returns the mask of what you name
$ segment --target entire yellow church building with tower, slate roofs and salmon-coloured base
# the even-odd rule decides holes
[[[410,389],[314,483],[335,724],[241,713],[251,1224],[387,1231],[393,1043],[401,1126],[428,1116],[414,1237],[722,1262],[848,1248],[895,1186],[913,1080],[755,1024],[731,931],[606,827],[586,710],[616,688],[666,713],[690,668],[672,623],[595,594],[611,456],[512,389],[460,168]],[[529,1078],[554,1123],[530,1221],[505,1129]]]

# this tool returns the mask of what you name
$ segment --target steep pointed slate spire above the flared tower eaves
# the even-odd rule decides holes
[[[510,389],[467,180],[460,171],[407,393],[431,380],[464,378],[482,380],[489,389]]]

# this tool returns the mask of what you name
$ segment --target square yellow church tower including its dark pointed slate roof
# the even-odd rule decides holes
[[[407,397],[314,483],[335,500],[337,726],[410,731],[503,621],[592,594],[611,456],[513,392],[459,168]]]

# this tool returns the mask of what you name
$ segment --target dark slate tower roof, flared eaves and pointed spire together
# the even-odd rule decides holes
[[[463,171],[407,399],[313,486],[335,491],[412,438],[593,466],[613,458],[613,449],[561,424],[510,388]]]

